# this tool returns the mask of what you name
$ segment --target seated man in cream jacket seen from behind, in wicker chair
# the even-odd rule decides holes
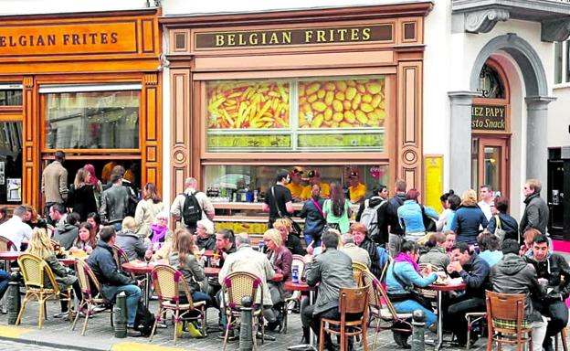
[[[237,251],[231,255],[227,255],[226,261],[218,274],[218,282],[220,284],[224,282],[227,275],[234,271],[247,271],[259,277],[262,282],[263,302],[261,302],[261,290],[258,289],[254,303],[263,303],[264,306],[270,307],[273,303],[271,303],[271,294],[269,293],[269,285],[267,282],[275,276],[275,271],[273,271],[267,256],[257,250],[253,250],[250,244],[251,240],[249,239],[248,233],[237,234]],[[264,310],[263,316],[270,324],[277,322],[277,317],[270,308]]]

